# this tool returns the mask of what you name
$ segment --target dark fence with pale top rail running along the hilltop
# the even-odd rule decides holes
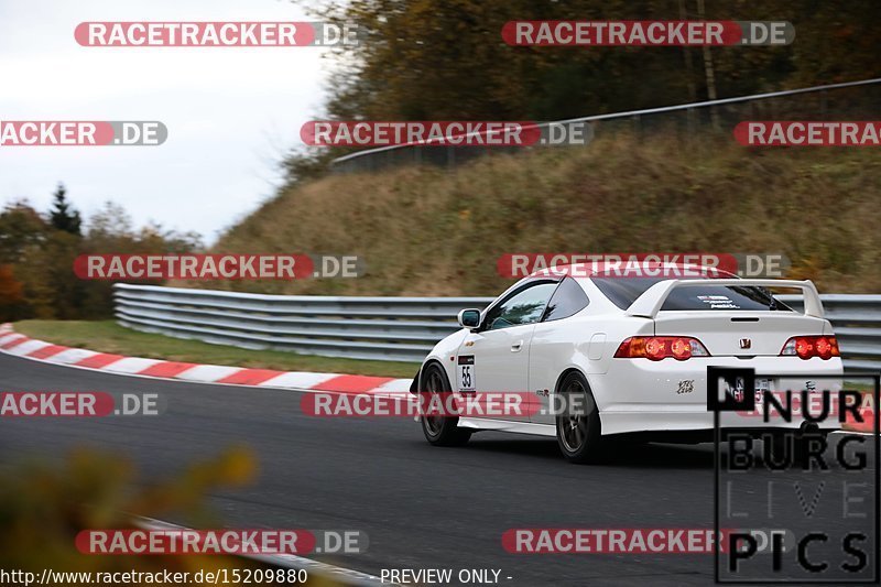
[[[605,131],[609,131],[612,128],[608,126],[609,123],[623,122],[622,128],[630,130],[641,131],[657,127],[663,128],[666,132],[672,124],[674,127],[683,127],[684,135],[693,138],[700,126],[713,128],[716,131],[725,128],[730,132],[730,129],[737,122],[743,120],[774,120],[781,116],[786,120],[796,119],[792,117],[801,117],[805,120],[825,120],[827,118],[837,119],[841,117],[848,120],[863,120],[867,116],[870,118],[874,116],[881,97],[874,91],[870,96],[863,95],[855,100],[847,93],[842,95],[841,90],[861,88],[864,94],[867,86],[878,86],[879,84],[881,84],[881,78],[860,79],[717,100],[554,120],[537,123],[536,127],[544,129],[551,124],[596,124],[603,122],[607,124],[603,127]],[[811,95],[816,96],[812,98]],[[792,99],[796,96],[800,97],[803,104],[797,104]],[[834,96],[839,96],[839,99],[837,101],[834,100]],[[679,117],[678,115],[686,116]],[[454,167],[489,152],[514,152],[519,149],[522,148],[445,146],[425,144],[425,141],[422,141],[356,151],[334,159],[330,162],[330,171],[334,173],[350,173],[425,163]]]

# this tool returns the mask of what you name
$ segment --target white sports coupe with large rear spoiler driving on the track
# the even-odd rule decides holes
[[[754,369],[758,401],[763,391],[841,388],[838,344],[812,282],[706,279],[694,265],[656,268],[698,276],[621,278],[602,267],[568,265],[519,281],[482,312],[460,312],[463,329],[434,347],[411,391],[529,392],[542,410],[491,418],[423,415],[425,437],[456,445],[476,431],[556,436],[567,459],[587,463],[608,456],[612,437],[710,441],[710,366]],[[804,313],[768,287],[801,290]],[[814,379],[824,374],[833,380]],[[586,410],[553,409],[555,400],[579,398]],[[722,427],[757,436],[806,428],[800,417],[721,417]]]

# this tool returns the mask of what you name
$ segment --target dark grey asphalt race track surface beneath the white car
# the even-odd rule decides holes
[[[0,465],[119,450],[145,476],[249,444],[258,481],[211,496],[235,528],[355,529],[370,546],[315,558],[361,572],[494,568],[501,585],[707,585],[713,555],[516,555],[511,528],[713,528],[711,446],[645,445],[613,465],[574,466],[553,439],[482,433],[435,448],[410,420],[320,420],[292,391],[159,381],[0,355],[0,391],[159,392],[155,417],[3,418]],[[184,522],[170,520],[171,522]],[[511,577],[508,579],[507,577]]]

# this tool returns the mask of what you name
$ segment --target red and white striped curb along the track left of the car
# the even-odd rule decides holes
[[[64,347],[30,338],[15,333],[10,324],[0,325],[0,352],[54,365],[66,365],[117,374],[255,388],[398,395],[409,393],[410,384],[413,381],[412,379],[393,379],[390,377],[274,371],[272,369],[248,369],[221,365],[196,365],[161,359],[123,357],[121,355]]]

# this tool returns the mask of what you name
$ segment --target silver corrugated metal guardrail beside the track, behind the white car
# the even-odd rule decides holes
[[[420,361],[458,329],[456,314],[491,297],[263,295],[117,284],[120,325],[250,349]],[[781,295],[801,306],[801,296]],[[881,295],[824,294],[826,317],[852,371],[881,371]]]

